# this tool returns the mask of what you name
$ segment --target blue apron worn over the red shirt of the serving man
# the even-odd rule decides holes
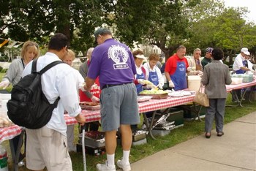
[[[177,62],[177,68],[173,75],[170,75],[175,86],[174,90],[183,90],[187,88],[187,78],[186,78],[186,64],[184,61]]]

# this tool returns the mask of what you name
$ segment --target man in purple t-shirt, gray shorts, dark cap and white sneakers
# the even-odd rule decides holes
[[[97,164],[97,170],[116,170],[116,131],[121,130],[123,158],[118,167],[131,170],[129,152],[132,146],[131,124],[140,123],[137,93],[134,82],[135,61],[127,45],[112,38],[108,28],[99,28],[94,36],[99,44],[91,55],[91,63],[86,77],[89,90],[99,76],[101,88],[101,122],[105,131],[107,162]]]

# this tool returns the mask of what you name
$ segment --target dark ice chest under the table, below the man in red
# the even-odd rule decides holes
[[[174,128],[176,129],[180,126],[184,126],[184,111],[177,108],[170,108],[169,110],[169,117],[166,119],[168,122],[174,121]]]

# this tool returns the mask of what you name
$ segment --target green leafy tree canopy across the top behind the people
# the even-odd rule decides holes
[[[94,30],[107,26],[114,37],[133,47],[157,45],[165,57],[178,45],[221,47],[226,55],[249,47],[255,54],[255,23],[246,8],[225,8],[221,0],[0,0],[0,37],[47,45],[61,32],[75,51],[94,44]],[[8,28],[7,33],[4,30]]]

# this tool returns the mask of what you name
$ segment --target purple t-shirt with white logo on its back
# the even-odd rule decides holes
[[[100,88],[106,84],[132,83],[135,74],[135,61],[127,45],[107,39],[94,48],[87,77],[99,76]]]

